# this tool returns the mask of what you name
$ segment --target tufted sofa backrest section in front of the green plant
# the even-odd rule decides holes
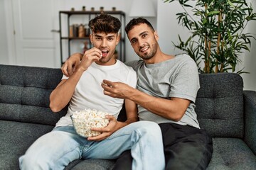
[[[243,137],[243,81],[239,74],[199,74],[196,113],[213,137]]]

